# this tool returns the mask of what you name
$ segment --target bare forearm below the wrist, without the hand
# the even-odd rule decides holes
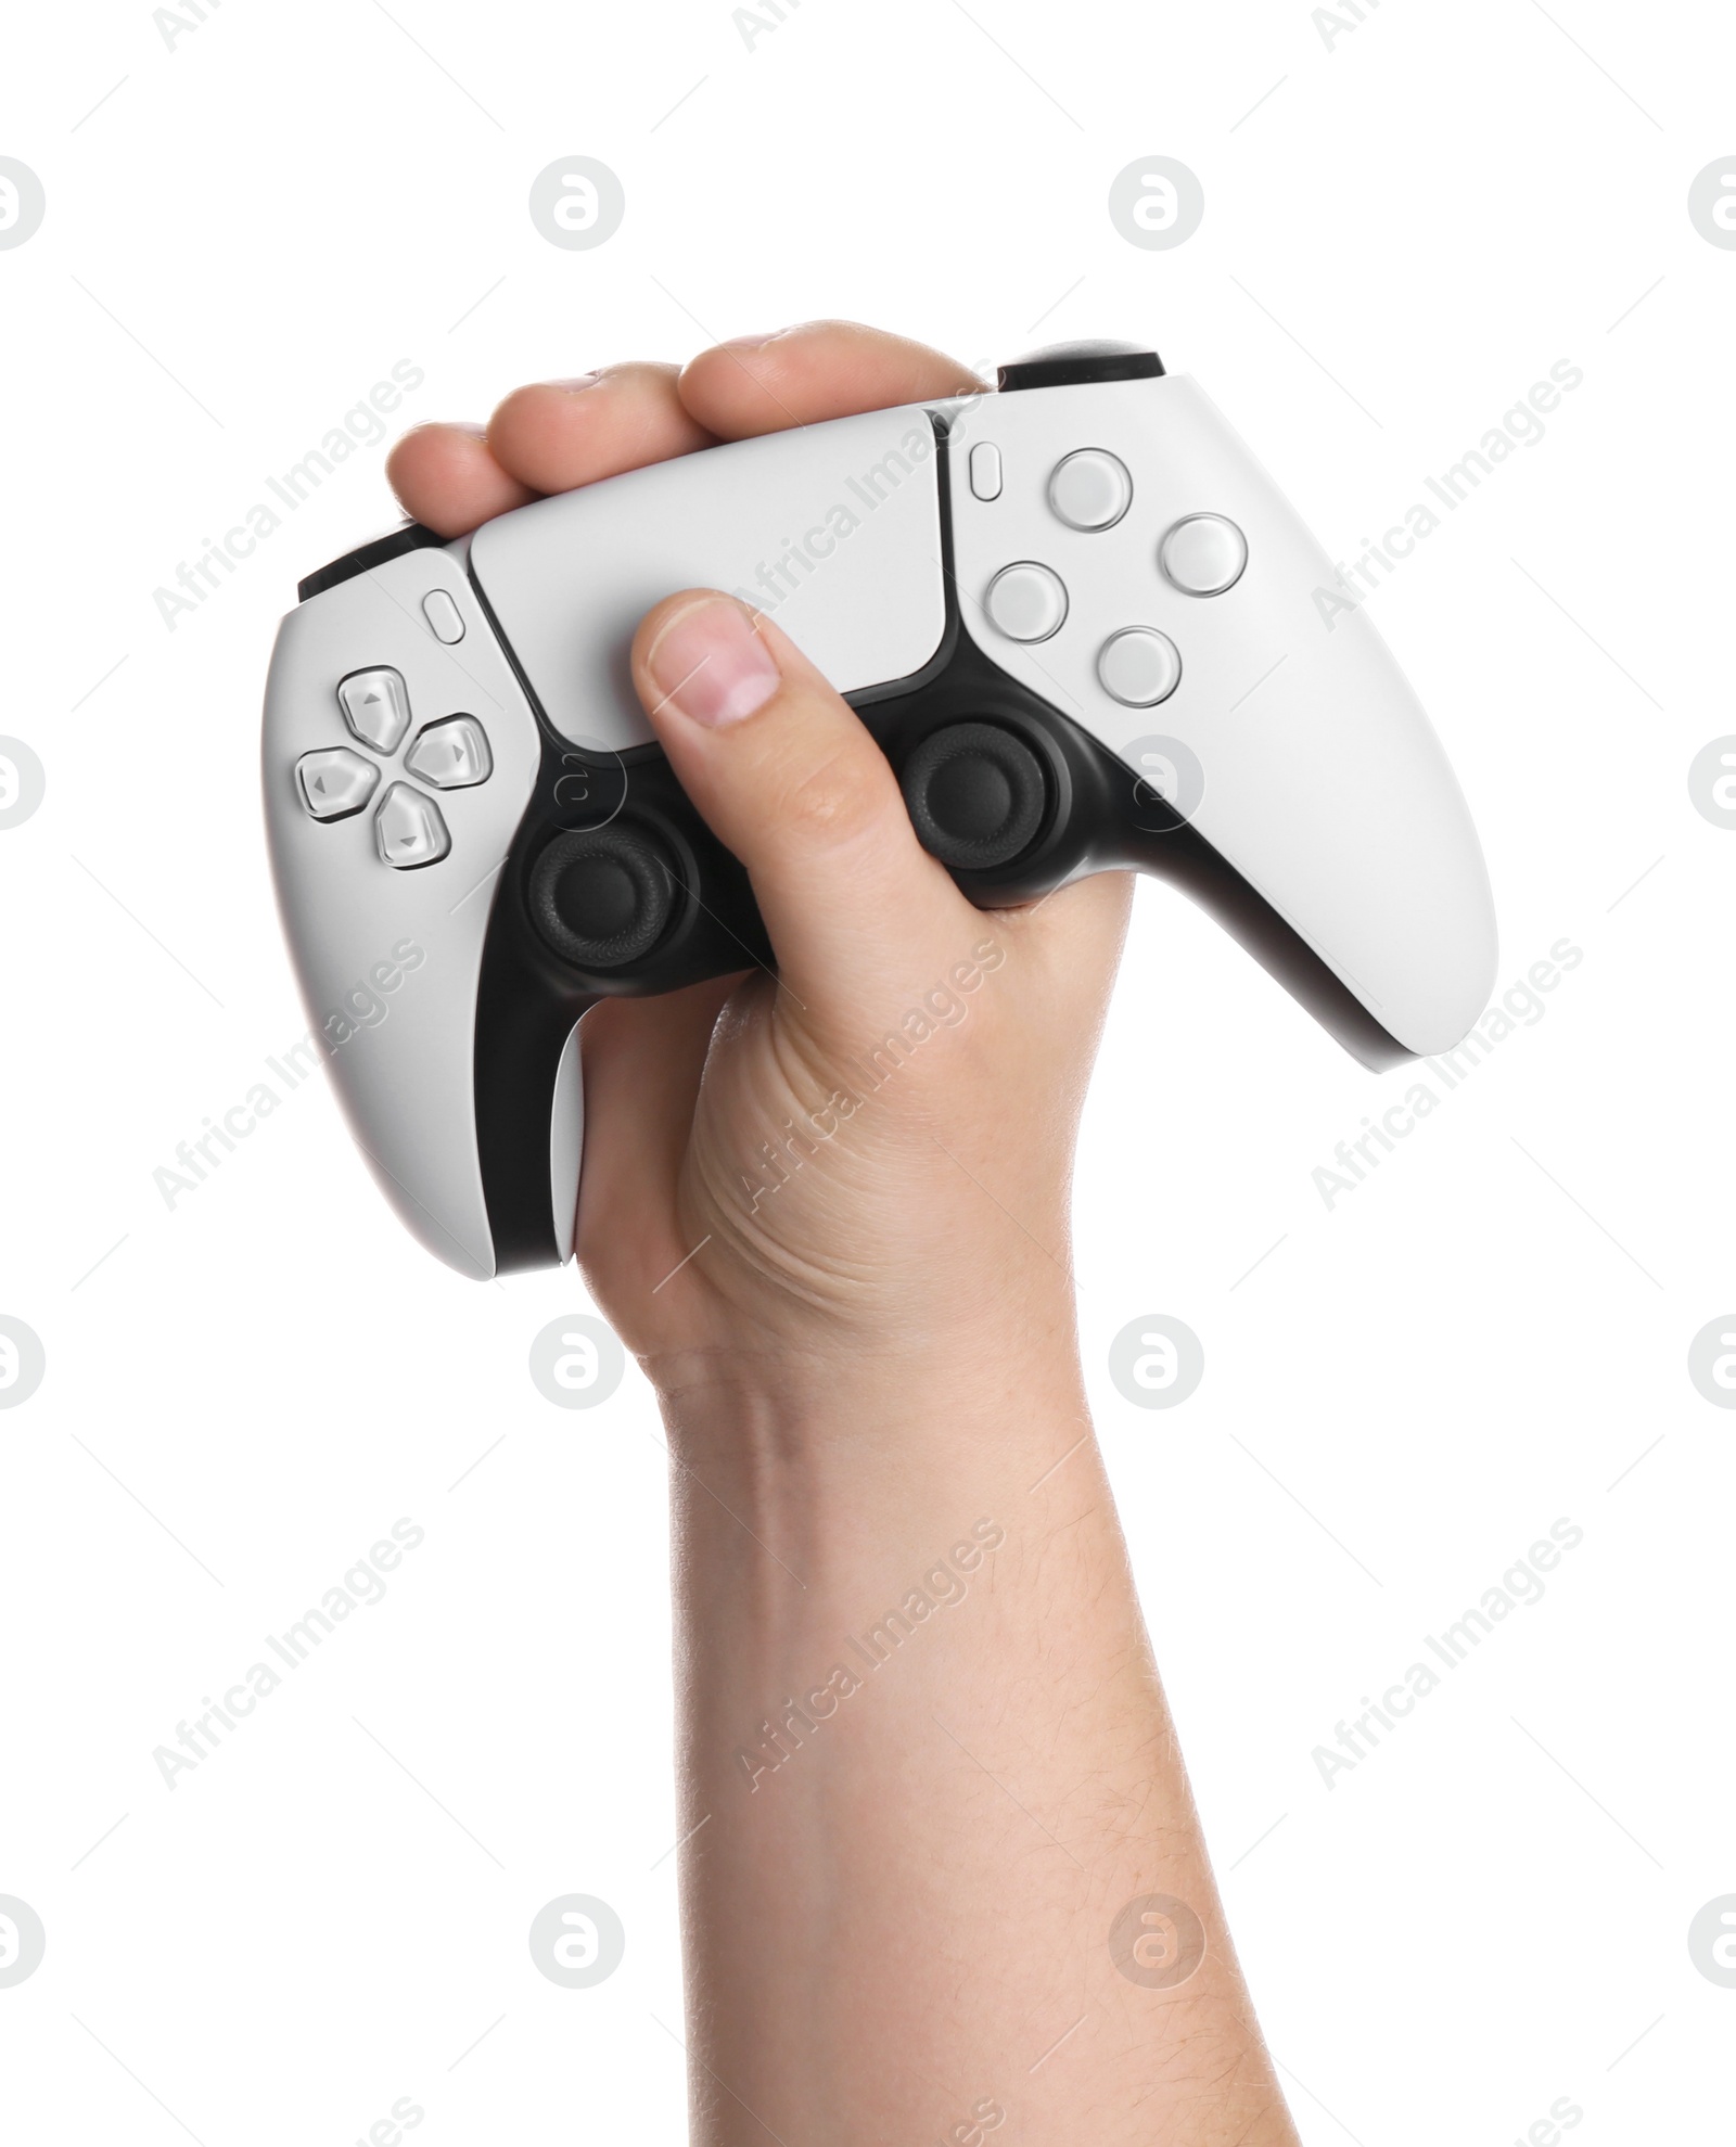
[[[1293,2141],[1048,1325],[670,1391],[705,2147]]]

